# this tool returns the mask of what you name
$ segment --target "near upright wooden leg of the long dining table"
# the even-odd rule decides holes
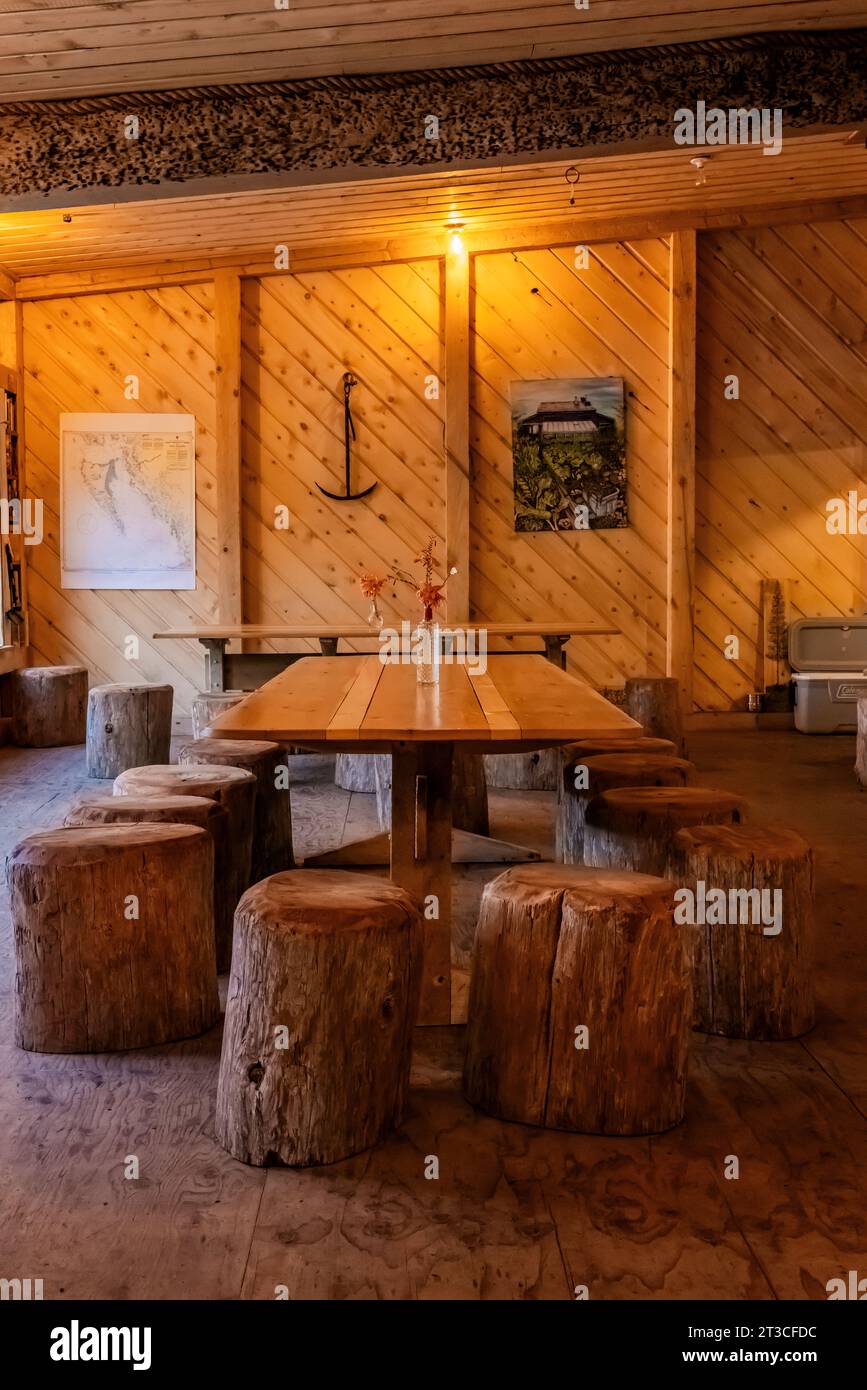
[[[452,744],[396,744],[392,751],[395,883],[424,917],[420,1023],[452,1019]]]

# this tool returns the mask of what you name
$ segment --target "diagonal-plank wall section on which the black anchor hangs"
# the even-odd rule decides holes
[[[411,569],[429,535],[445,563],[440,275],[439,261],[420,261],[245,282],[246,621],[358,621],[365,570]],[[358,379],[353,491],[377,482],[363,502],[317,486],[343,491],[347,370]],[[427,399],[429,378],[439,399]],[[281,505],[289,530],[275,528]],[[400,587],[381,609],[400,619],[415,602]]]

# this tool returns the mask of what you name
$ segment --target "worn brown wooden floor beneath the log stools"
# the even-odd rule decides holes
[[[693,1036],[686,1120],[607,1140],[502,1125],[460,1095],[460,1027],[417,1037],[407,1123],[332,1168],[247,1169],[213,1140],[220,1029],[100,1056],[11,1042],[0,951],[0,1276],[46,1298],[824,1298],[867,1258],[867,794],[853,739],[702,734],[702,780],[817,852],[814,1031],[778,1044]],[[293,787],[302,853],[374,828],[372,798],[313,760]],[[318,780],[310,780],[315,778]],[[0,749],[0,851],[57,824],[83,749]],[[496,794],[492,831],[545,847],[546,794]],[[481,884],[457,885],[461,967]],[[138,1182],[124,1177],[128,1155]],[[738,1180],[724,1177],[728,1155]],[[427,1179],[429,1158],[439,1177]]]

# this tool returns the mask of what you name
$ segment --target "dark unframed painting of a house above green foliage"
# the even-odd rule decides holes
[[[622,377],[511,382],[515,531],[628,525]]]

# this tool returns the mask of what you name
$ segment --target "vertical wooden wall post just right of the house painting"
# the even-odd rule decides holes
[[[695,659],[696,234],[672,232],[668,297],[668,537],[666,673],[692,712]]]

